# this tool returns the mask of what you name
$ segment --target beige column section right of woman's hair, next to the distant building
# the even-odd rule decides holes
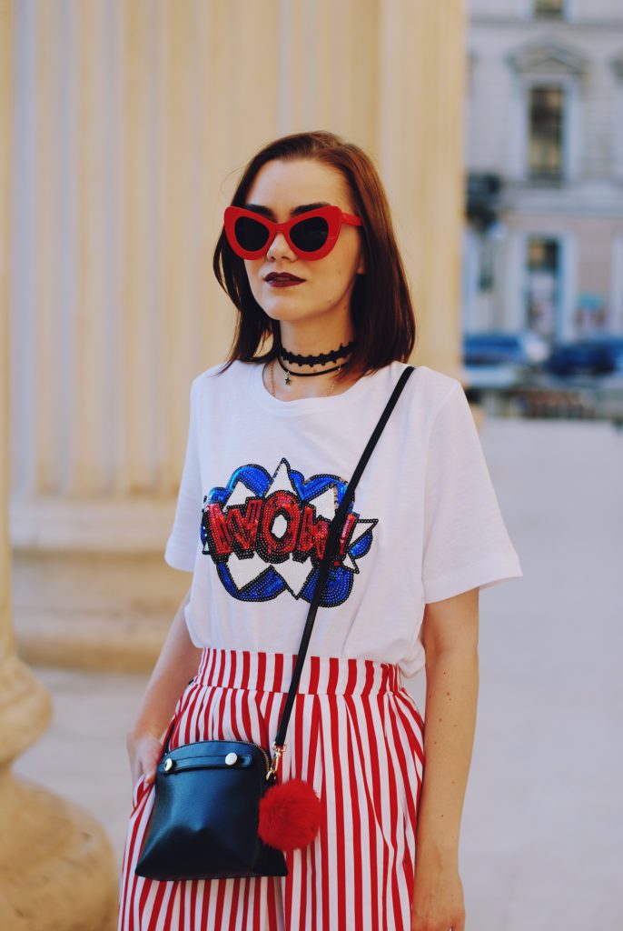
[[[412,282],[417,363],[457,377],[463,0],[380,0],[378,162]]]

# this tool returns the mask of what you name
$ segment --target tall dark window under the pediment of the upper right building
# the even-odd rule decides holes
[[[563,111],[561,87],[530,88],[528,174],[533,180],[563,177]]]

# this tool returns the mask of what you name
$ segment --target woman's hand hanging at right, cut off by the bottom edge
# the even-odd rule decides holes
[[[411,911],[411,931],[465,931],[463,884],[455,867],[418,862]]]

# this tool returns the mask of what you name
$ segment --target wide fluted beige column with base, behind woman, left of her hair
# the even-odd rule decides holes
[[[212,251],[236,169],[276,131],[278,13],[18,7],[11,526],[31,661],[148,668],[188,586],[164,546],[192,378],[232,339]]]

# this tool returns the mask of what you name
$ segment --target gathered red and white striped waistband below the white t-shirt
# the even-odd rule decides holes
[[[221,688],[287,692],[296,654],[254,653],[206,647],[195,681]],[[298,693],[307,695],[372,695],[402,688],[400,668],[374,659],[339,656],[305,657]]]

